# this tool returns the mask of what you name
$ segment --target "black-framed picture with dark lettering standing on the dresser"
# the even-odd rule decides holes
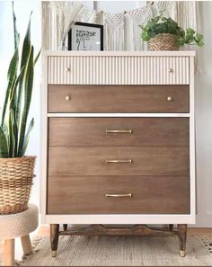
[[[92,23],[75,22],[68,32],[68,50],[103,50],[103,26]]]

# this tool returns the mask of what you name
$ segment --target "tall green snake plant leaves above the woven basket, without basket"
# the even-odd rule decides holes
[[[0,121],[0,157],[22,157],[28,146],[34,119],[28,123],[31,106],[34,66],[40,52],[34,58],[31,45],[31,15],[19,53],[20,36],[16,29],[13,11],[14,52],[7,71],[7,87]]]

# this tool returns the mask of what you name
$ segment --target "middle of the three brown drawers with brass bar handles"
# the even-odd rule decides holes
[[[189,147],[49,147],[49,175],[187,176],[189,153]]]

